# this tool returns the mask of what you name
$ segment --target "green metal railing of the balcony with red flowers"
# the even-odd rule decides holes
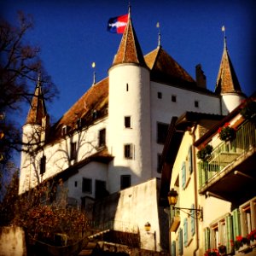
[[[198,163],[200,189],[242,154],[255,148],[255,145],[255,125],[247,121],[236,131],[236,138],[230,142],[220,143],[216,148],[213,148],[212,154]]]

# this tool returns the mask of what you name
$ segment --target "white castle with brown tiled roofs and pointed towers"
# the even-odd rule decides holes
[[[60,178],[79,205],[159,177],[172,116],[185,111],[226,115],[244,98],[226,44],[216,89],[207,90],[201,65],[193,79],[162,46],[143,55],[131,17],[109,68],[49,125],[40,80],[23,126],[20,194]],[[38,147],[39,143],[39,147]]]

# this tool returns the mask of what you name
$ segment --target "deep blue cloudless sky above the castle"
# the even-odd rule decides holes
[[[159,21],[163,49],[193,78],[195,65],[201,63],[209,90],[214,90],[218,75],[224,25],[241,88],[247,96],[253,93],[256,67],[253,1],[131,0],[130,3],[131,19],[143,54],[157,47]],[[26,40],[40,46],[44,67],[61,92],[55,102],[47,105],[55,122],[90,88],[93,61],[96,81],[108,76],[121,39],[121,35],[107,32],[108,19],[126,14],[128,1],[0,0],[0,9],[10,22],[15,22],[17,10],[34,17],[34,29]],[[25,121],[27,108],[21,123]]]

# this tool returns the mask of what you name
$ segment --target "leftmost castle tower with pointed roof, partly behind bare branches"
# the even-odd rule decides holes
[[[49,130],[49,115],[45,108],[42,82],[38,75],[38,83],[32,97],[31,107],[26,117],[26,123],[22,127],[22,149],[20,164],[20,188],[19,194],[31,188],[32,169],[38,167],[33,159],[32,151],[43,145]]]

